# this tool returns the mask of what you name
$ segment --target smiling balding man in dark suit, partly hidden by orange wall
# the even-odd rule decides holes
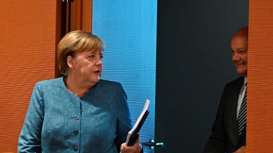
[[[231,50],[237,73],[242,76],[224,87],[212,134],[203,153],[246,152],[248,26],[233,35]]]

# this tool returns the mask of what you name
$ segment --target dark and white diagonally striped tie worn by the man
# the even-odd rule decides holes
[[[237,119],[239,136],[242,134],[242,130],[245,127],[246,119],[247,119],[247,87],[246,87],[246,92],[245,92],[245,95],[241,104],[240,112],[238,115],[238,119]]]

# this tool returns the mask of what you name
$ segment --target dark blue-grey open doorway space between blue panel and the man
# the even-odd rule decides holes
[[[230,41],[248,0],[157,0],[155,153],[202,153],[223,87],[239,77]]]

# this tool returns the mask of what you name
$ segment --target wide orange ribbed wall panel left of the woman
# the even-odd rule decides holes
[[[36,82],[55,78],[56,0],[0,0],[0,152],[16,153]]]

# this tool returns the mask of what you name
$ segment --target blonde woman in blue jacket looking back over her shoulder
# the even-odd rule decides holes
[[[139,138],[124,142],[132,129],[121,84],[100,80],[104,42],[74,31],[59,42],[63,77],[38,82],[19,137],[19,153],[140,153]]]

